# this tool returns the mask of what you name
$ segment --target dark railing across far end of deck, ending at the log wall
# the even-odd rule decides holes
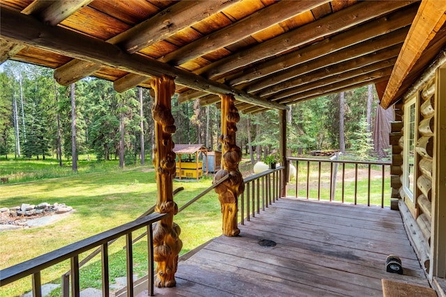
[[[380,188],[378,189],[379,195],[380,195],[380,206],[384,207],[384,205],[390,206],[390,195],[388,197],[389,202],[385,203],[385,179],[386,179],[386,170],[385,168],[388,166],[390,168],[390,163],[388,162],[374,162],[374,161],[350,161],[350,160],[330,160],[330,159],[306,159],[306,158],[295,158],[295,157],[289,157],[288,160],[290,163],[293,163],[293,165],[296,168],[296,176],[295,176],[295,198],[298,197],[304,197],[304,198],[314,198],[317,200],[321,200],[321,193],[322,193],[322,186],[321,186],[321,177],[324,175],[322,173],[322,167],[325,166],[324,171],[328,170],[328,167],[330,168],[330,175],[328,177],[325,177],[325,182],[328,181],[330,186],[328,187],[329,191],[328,193],[328,199],[326,200],[334,201],[335,200],[335,189],[337,185],[337,171],[338,166],[341,166],[341,198],[340,202],[344,203],[347,200],[349,202],[353,202],[354,204],[367,204],[368,206],[371,205],[371,182],[376,182],[377,179],[380,179]],[[349,168],[347,168],[349,167]],[[379,177],[372,176],[372,167],[378,168],[374,169],[374,172],[378,171]],[[367,170],[367,191],[362,191],[360,188],[358,188],[358,181],[363,180],[364,178],[358,179],[358,168],[360,168],[361,171]],[[311,177],[310,172],[314,170],[315,177]],[[354,189],[353,194],[346,195],[346,171],[349,171],[354,174]],[[305,184],[305,193],[306,195],[302,196],[299,195],[299,182],[300,182],[300,171],[305,172],[306,182],[303,182]],[[390,170],[387,170],[387,175]],[[326,175],[326,174],[325,174]],[[389,177],[388,175],[387,177]],[[312,182],[316,182],[317,180],[317,186],[311,186]],[[302,184],[302,183],[301,183]],[[390,184],[390,183],[389,183]],[[327,187],[325,187],[327,188]],[[315,193],[315,190],[317,191]],[[351,190],[351,189],[349,189]],[[310,191],[313,191],[313,193],[310,193]],[[337,190],[339,191],[339,189]],[[376,192],[376,190],[375,190]],[[339,192],[338,192],[339,193]],[[364,196],[367,195],[367,200],[364,200]],[[361,198],[361,199],[358,199]],[[364,203],[362,201],[365,201],[367,203]],[[378,204],[378,203],[376,203]]]

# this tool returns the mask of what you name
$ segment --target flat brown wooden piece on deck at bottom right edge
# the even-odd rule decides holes
[[[383,279],[382,282],[383,297],[437,297],[436,291],[429,287],[422,287],[417,284],[408,284],[407,282],[397,282],[395,280],[386,279]]]

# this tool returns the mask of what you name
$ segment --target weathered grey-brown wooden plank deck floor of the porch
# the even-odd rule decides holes
[[[399,211],[282,198],[240,230],[180,259],[177,287],[155,296],[383,296],[383,278],[429,287]],[[391,254],[403,275],[385,271]]]

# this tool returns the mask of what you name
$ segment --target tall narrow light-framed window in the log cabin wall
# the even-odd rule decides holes
[[[403,148],[403,190],[407,197],[413,201],[415,193],[415,100],[404,104],[404,148]]]

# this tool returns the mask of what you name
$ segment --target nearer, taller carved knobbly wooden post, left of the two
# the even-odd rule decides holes
[[[174,80],[167,76],[153,79],[155,90],[152,115],[155,120],[155,157],[153,166],[156,170],[157,202],[155,211],[170,214],[153,228],[153,254],[157,262],[157,287],[175,287],[175,273],[178,254],[183,247],[179,239],[180,227],[174,223],[178,206],[174,202],[175,156],[171,134],[175,133],[174,117],[171,113],[171,97],[175,93]]]

